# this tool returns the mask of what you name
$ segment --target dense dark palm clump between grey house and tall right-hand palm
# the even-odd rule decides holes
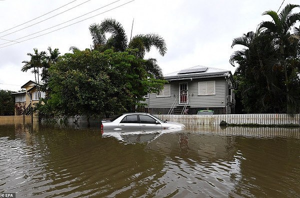
[[[244,48],[233,52],[229,62],[238,67],[234,73],[241,82],[238,95],[244,109],[249,113],[275,112],[274,101],[280,101],[281,87],[278,83],[277,60],[272,45],[272,37],[264,32],[248,32],[233,39],[231,47],[241,45]],[[280,78],[279,78],[280,79]],[[278,108],[277,108],[278,109]],[[281,109],[277,110],[282,112]]]

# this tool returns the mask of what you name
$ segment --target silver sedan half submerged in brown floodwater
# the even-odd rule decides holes
[[[147,132],[163,130],[182,130],[183,124],[163,121],[148,113],[124,113],[112,120],[103,120],[103,133],[106,132]]]

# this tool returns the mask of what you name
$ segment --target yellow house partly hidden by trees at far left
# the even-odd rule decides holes
[[[40,85],[39,85],[40,86]],[[14,114],[22,114],[22,113],[29,113],[28,111],[31,107],[33,107],[34,103],[37,103],[39,100],[39,91],[38,91],[38,84],[32,80],[29,80],[23,86],[22,89],[25,91],[12,93],[15,97],[15,108]],[[40,97],[45,97],[45,92],[40,91]],[[27,109],[27,111],[25,111]],[[25,112],[24,112],[25,111]]]

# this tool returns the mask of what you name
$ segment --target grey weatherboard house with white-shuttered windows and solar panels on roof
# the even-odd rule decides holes
[[[215,114],[234,113],[235,82],[228,70],[194,66],[169,73],[164,79],[168,84],[160,93],[145,96],[142,103],[147,105],[146,112],[196,114],[198,110],[210,109]]]

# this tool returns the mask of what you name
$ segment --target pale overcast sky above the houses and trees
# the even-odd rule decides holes
[[[282,3],[282,0],[129,1],[0,0],[0,89],[18,91],[21,85],[34,79],[34,74],[29,71],[20,71],[22,61],[30,59],[27,53],[33,53],[33,48],[45,51],[50,46],[58,48],[61,54],[69,52],[70,46],[81,50],[90,48],[92,40],[88,27],[104,18],[119,21],[128,38],[133,18],[133,36],[140,33],[162,36],[167,44],[167,53],[160,56],[152,48],[146,56],[156,58],[164,74],[195,65],[230,70],[233,74],[235,67],[228,60],[238,48],[231,49],[232,39],[255,31],[263,20],[271,20],[261,14],[266,10],[277,11]],[[284,0],[282,7],[287,3],[300,4],[300,1]],[[86,15],[81,16],[83,14]],[[80,20],[83,21],[78,22]],[[52,26],[55,27],[50,28]],[[59,30],[53,31],[56,29]],[[32,35],[27,36],[29,34]]]

